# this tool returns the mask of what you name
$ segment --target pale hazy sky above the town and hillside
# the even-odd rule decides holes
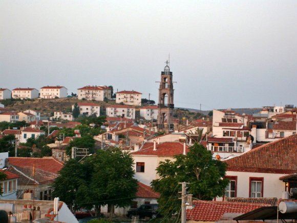
[[[0,0],[0,87],[112,85],[176,107],[297,106],[297,1]]]

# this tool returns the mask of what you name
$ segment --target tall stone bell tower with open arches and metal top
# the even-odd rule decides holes
[[[158,103],[158,131],[173,132],[173,82],[172,72],[168,66],[168,60],[164,71],[161,72],[161,82],[159,87],[159,103]]]

